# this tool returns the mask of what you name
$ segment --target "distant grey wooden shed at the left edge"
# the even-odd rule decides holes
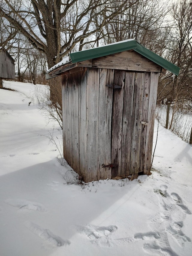
[[[2,78],[14,79],[15,78],[15,63],[10,54],[0,47],[0,87],[2,87]]]

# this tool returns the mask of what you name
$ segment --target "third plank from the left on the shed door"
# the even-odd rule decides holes
[[[130,174],[138,173],[139,167],[140,167],[143,86],[144,86],[144,73],[135,73]]]

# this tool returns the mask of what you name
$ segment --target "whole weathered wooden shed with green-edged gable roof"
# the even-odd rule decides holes
[[[63,154],[85,182],[149,173],[159,73],[179,68],[121,41],[70,54],[62,76]]]

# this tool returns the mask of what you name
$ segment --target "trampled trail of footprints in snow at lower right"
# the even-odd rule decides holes
[[[125,242],[144,240],[143,249],[146,253],[151,255],[178,256],[172,249],[174,241],[181,248],[184,247],[185,242],[191,242],[191,239],[182,231],[183,217],[185,214],[191,214],[191,212],[183,204],[182,198],[176,193],[168,194],[167,188],[167,185],[161,185],[160,188],[154,190],[160,196],[162,210],[150,219],[149,225],[153,232],[136,233],[134,237],[116,239],[116,243],[124,244]],[[180,206],[183,212],[179,211],[177,206]],[[163,220],[160,218],[160,215],[164,216]],[[170,243],[170,240],[172,243]],[[181,252],[182,249],[179,253]]]

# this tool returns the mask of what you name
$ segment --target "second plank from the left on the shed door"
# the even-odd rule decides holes
[[[121,175],[130,174],[131,164],[131,131],[133,120],[135,73],[125,73],[124,102],[123,102],[123,124],[122,124],[122,154]]]

